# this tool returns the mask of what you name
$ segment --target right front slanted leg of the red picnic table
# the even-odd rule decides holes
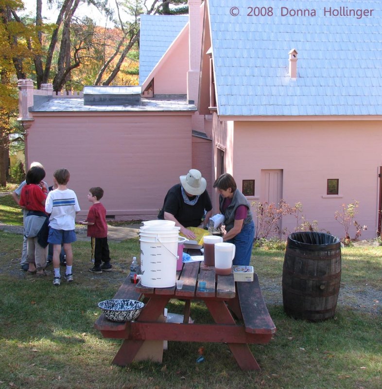
[[[226,303],[224,301],[206,301],[206,306],[212,318],[217,324],[235,325],[235,319],[232,318]],[[227,343],[239,367],[242,370],[260,370],[260,366],[253,356],[248,345],[245,343]]]

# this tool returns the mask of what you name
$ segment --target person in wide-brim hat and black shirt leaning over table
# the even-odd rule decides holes
[[[206,191],[207,182],[196,169],[191,169],[179,179],[180,184],[174,185],[167,192],[158,219],[174,221],[186,238],[195,239],[195,234],[188,227],[204,228],[208,226],[212,215],[212,203]]]

